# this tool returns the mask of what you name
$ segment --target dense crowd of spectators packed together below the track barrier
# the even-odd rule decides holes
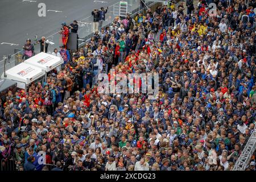
[[[1,101],[2,168],[232,170],[255,129],[255,1],[214,1],[214,16],[210,2],[117,16],[79,50],[55,49],[61,69]],[[110,69],[158,73],[159,93],[98,93]]]

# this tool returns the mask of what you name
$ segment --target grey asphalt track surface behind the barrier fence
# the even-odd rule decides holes
[[[1,0],[0,60],[22,48],[26,39],[38,40],[60,30],[61,23],[72,23],[91,15],[93,9],[111,6],[118,0]],[[38,4],[46,4],[46,17],[38,16]],[[49,10],[49,11],[48,11]],[[0,63],[0,67],[3,63]]]

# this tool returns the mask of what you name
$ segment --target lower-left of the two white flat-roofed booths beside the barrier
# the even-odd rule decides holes
[[[26,63],[20,63],[8,69],[5,74],[6,77],[4,77],[3,73],[1,78],[13,80],[17,83],[18,88],[25,90],[27,90],[27,86],[32,82],[41,82],[43,84],[44,80],[46,80],[46,72],[44,69]]]

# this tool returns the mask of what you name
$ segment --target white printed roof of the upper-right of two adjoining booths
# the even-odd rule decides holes
[[[30,57],[30,59],[25,60],[24,63],[34,65],[48,73],[49,71],[52,71],[52,69],[60,67],[60,65],[64,63],[64,60],[61,57],[40,52],[37,55]]]

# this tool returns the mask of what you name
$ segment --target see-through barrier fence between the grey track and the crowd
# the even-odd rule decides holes
[[[128,4],[127,13],[134,15],[135,13],[138,13],[142,10],[138,0],[126,0],[126,2]],[[147,1],[145,5],[147,7],[150,7],[155,3],[156,2]],[[112,23],[115,16],[118,16],[118,13],[119,13],[119,2],[109,6],[108,13],[106,14],[106,19],[102,24],[102,27],[106,27],[110,23]],[[92,36],[93,34],[93,31],[92,31],[93,18],[92,16],[88,16],[87,18],[77,20],[77,21],[79,22],[78,23],[79,24],[78,35],[80,38],[79,47],[81,47],[84,45],[85,41],[88,40],[90,36]],[[50,36],[47,36],[46,39],[49,40],[50,42],[55,43],[53,45],[51,44],[48,45],[48,52],[53,52],[53,49],[59,48],[59,46],[62,45],[61,35],[59,34],[58,31]],[[82,39],[84,39],[84,41],[82,41]],[[34,44],[34,48],[35,48],[35,51],[34,51],[35,54],[40,52],[40,44]],[[15,65],[18,65],[19,63],[22,63],[23,62],[22,55],[23,55],[23,49],[15,49],[14,54],[6,58],[6,70],[13,68]],[[5,63],[5,60],[0,61],[0,76],[4,71],[4,63]]]

